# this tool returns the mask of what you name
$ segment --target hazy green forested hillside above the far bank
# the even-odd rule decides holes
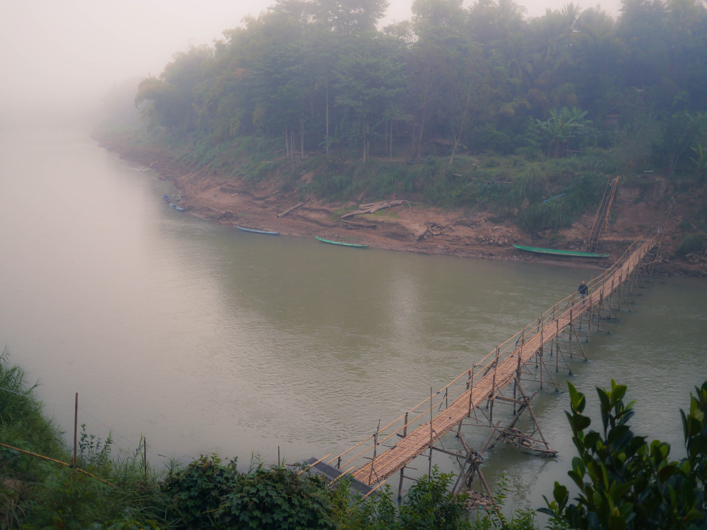
[[[143,134],[221,177],[493,209],[532,235],[592,211],[607,175],[660,177],[660,200],[692,201],[677,239],[707,247],[694,202],[707,176],[700,0],[624,0],[617,19],[416,0],[411,20],[379,28],[386,8],[276,1],[141,81]]]

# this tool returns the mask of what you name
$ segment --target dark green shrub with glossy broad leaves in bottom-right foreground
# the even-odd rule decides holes
[[[566,413],[579,456],[568,475],[580,493],[570,502],[566,486],[555,483],[553,497],[539,511],[577,529],[696,529],[707,523],[707,381],[680,411],[686,457],[670,461],[670,445],[645,441],[629,428],[633,401],[612,380],[597,388],[602,430],[588,430],[584,394],[568,383]]]

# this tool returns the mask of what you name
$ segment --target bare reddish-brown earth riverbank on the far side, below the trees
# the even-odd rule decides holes
[[[280,183],[273,179],[254,184],[235,177],[226,178],[216,170],[180,163],[170,153],[157,148],[115,141],[110,142],[110,148],[120,157],[151,167],[159,178],[173,182],[178,191],[176,199],[186,211],[222,225],[276,231],[283,235],[318,236],[419,254],[596,266],[597,269],[610,266],[636,238],[665,228],[655,272],[707,276],[707,257],[693,254],[680,257],[674,252],[682,240],[678,226],[687,205],[674,205],[668,216],[663,199],[671,189],[662,179],[641,182],[641,189],[630,186],[619,189],[612,205],[614,220],[602,237],[602,252],[608,253],[609,258],[588,261],[542,257],[515,249],[513,245],[583,250],[595,220],[594,213],[585,214],[571,228],[531,237],[508,221],[495,218],[493,212],[448,210],[397,197],[402,199],[397,206],[344,221],[339,219],[341,214],[358,208],[358,202],[365,201],[365,197],[356,203],[339,204],[327,204],[309,196],[300,200],[296,190],[283,192]],[[646,198],[647,195],[650,198]],[[285,213],[294,206],[297,207]]]

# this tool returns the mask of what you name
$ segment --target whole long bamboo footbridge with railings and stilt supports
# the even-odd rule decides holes
[[[537,391],[525,394],[521,380],[537,382],[539,379],[541,389],[544,384],[552,384],[558,389],[551,377],[551,369],[571,373],[568,357],[586,359],[580,344],[580,332],[586,333],[588,339],[592,323],[598,331],[600,326],[607,325],[602,321],[616,317],[615,311],[621,310],[621,300],[628,300],[627,296],[638,285],[642,261],[656,245],[655,236],[636,240],[613,266],[588,283],[589,294],[584,300],[578,293],[560,300],[445,387],[436,392],[431,389],[427,399],[404,415],[384,427],[380,427],[379,420],[375,434],[331,459],[327,455],[327,461],[320,459],[310,461],[310,464],[316,466],[321,463],[328,469],[337,470],[341,476],[349,474],[363,487],[362,491],[368,493],[399,471],[400,496],[403,478],[410,478],[404,476],[406,466],[416,457],[429,452],[431,469],[435,450],[464,460],[454,487],[457,493],[464,487],[471,487],[474,477],[478,476],[486,493],[477,496],[490,497],[493,502],[480,465],[484,452],[496,442],[510,443],[544,457],[556,454],[542,435],[530,407],[530,400]],[[658,250],[655,251],[656,259],[657,254]],[[581,331],[583,319],[587,323],[586,332]],[[511,387],[513,397],[503,395],[504,392],[510,394]],[[510,424],[503,428],[499,428],[501,420],[493,423],[493,404],[496,402],[513,405]],[[530,434],[515,428],[521,413],[525,412],[528,413],[526,416],[530,415]],[[469,447],[464,441],[461,432],[464,421],[493,429],[480,451]],[[450,452],[443,447],[442,437],[455,428],[466,454]],[[381,447],[385,450],[380,450]],[[477,502],[477,506],[479,504],[484,505],[483,501]]]

